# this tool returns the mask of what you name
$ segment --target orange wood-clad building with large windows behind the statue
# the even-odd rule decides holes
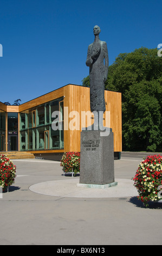
[[[121,93],[105,90],[105,102],[114,133],[114,154],[119,155],[122,151]],[[74,84],[20,106],[0,102],[0,151],[29,151],[54,160],[60,159],[63,152],[80,151],[83,120],[86,126],[93,120],[89,112],[89,88]],[[106,112],[104,126],[107,126]]]

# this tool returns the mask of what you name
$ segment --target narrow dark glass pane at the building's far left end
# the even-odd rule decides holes
[[[5,151],[5,119],[6,113],[0,109],[0,151]]]

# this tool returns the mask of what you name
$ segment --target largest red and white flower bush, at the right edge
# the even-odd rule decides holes
[[[138,199],[145,206],[148,206],[149,201],[158,202],[162,198],[162,156],[147,156],[139,164],[133,180],[139,193]]]

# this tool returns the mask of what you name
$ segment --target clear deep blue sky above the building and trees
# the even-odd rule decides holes
[[[24,103],[82,84],[95,25],[109,65],[119,53],[157,48],[161,16],[157,0],[0,0],[0,101]]]

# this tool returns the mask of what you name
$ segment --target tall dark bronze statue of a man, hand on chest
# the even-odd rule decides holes
[[[86,61],[86,65],[89,66],[90,111],[105,112],[105,82],[108,75],[107,44],[99,39],[101,32],[99,26],[94,26],[93,32],[95,39],[88,46]]]

